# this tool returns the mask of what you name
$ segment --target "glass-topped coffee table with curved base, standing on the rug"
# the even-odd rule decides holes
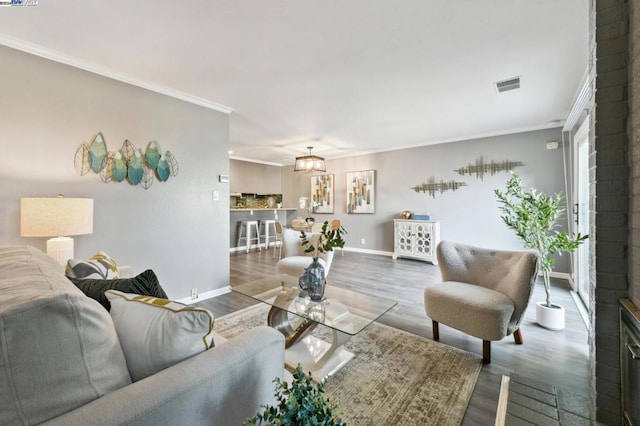
[[[354,354],[344,349],[351,336],[393,308],[397,302],[328,285],[324,298],[313,301],[301,294],[298,277],[278,275],[231,287],[271,306],[267,324],[285,337],[285,360],[289,367],[298,363],[311,371],[316,380],[334,374]],[[311,331],[324,325],[331,331],[331,343]]]

